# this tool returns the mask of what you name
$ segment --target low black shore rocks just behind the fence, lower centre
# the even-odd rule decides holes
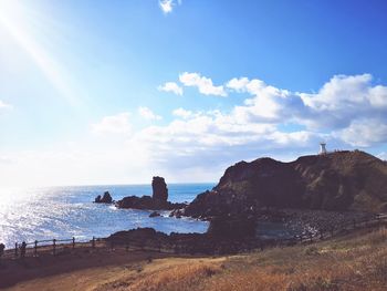
[[[260,247],[263,242],[255,238],[255,220],[250,218],[213,219],[206,233],[166,235],[153,228],[137,228],[118,231],[106,241],[138,248],[169,250],[175,253],[221,254],[237,253]],[[261,246],[262,247],[262,246]]]

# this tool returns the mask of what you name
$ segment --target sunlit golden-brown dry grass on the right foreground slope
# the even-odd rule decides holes
[[[223,260],[186,260],[145,272],[122,290],[387,290],[387,229]]]

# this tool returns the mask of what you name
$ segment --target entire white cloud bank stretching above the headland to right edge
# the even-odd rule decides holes
[[[201,179],[213,179],[240,159],[270,155],[286,160],[316,153],[321,141],[328,142],[331,150],[387,142],[387,87],[373,84],[369,74],[334,75],[316,93],[248,77],[213,85],[211,79],[188,72],[179,82],[202,95],[244,94],[245,100],[229,112],[178,107],[169,123],[130,135],[128,148],[140,148],[153,167],[174,175],[195,172]],[[143,115],[155,119],[147,111],[151,114]]]

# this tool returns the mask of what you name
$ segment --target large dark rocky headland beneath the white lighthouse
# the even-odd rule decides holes
[[[291,163],[259,158],[229,167],[185,215],[210,217],[262,207],[387,210],[387,163],[364,152],[303,156]]]

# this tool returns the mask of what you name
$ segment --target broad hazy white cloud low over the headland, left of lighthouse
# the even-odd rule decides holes
[[[137,133],[132,144],[140,144],[158,166],[175,169],[202,169],[202,175],[218,178],[226,166],[240,159],[286,148],[317,148],[321,136],[311,132],[280,132],[275,125],[240,121],[233,113],[190,112],[182,108],[166,126],[149,126]],[[175,174],[176,175],[176,174]]]

